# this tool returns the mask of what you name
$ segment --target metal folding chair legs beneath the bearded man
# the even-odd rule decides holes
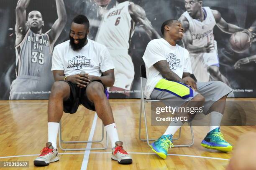
[[[108,134],[106,132],[106,145],[104,148],[77,148],[77,149],[65,149],[62,148],[61,143],[99,143],[102,142],[102,140],[104,139],[104,125],[102,122],[102,138],[101,140],[88,140],[88,141],[64,141],[62,140],[62,135],[61,135],[61,120],[59,122],[59,148],[61,148],[61,150],[104,150],[108,148]]]

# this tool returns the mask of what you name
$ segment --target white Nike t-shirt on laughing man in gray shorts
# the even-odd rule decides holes
[[[143,60],[146,65],[147,82],[145,95],[149,99],[157,82],[162,79],[161,73],[153,66],[156,62],[167,60],[170,69],[182,78],[183,72],[192,74],[189,52],[176,44],[172,46],[163,38],[151,40],[144,52]]]

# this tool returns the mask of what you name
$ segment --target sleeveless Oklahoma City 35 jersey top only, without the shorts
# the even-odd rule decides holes
[[[29,29],[15,49],[17,76],[52,77],[52,50],[47,33],[36,34]]]

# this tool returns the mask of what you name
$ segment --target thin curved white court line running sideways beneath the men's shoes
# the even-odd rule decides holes
[[[140,152],[129,152],[130,154],[142,154],[142,155],[156,155],[156,153],[140,153]],[[59,153],[59,155],[74,155],[74,154],[85,154],[84,153]],[[111,154],[111,152],[91,152],[90,154]],[[197,156],[197,155],[180,155],[180,154],[168,154],[170,156],[184,156],[184,157],[192,157],[192,158],[205,158],[205,159],[215,159],[215,160],[229,160],[224,158],[215,158],[215,157],[207,157],[207,156]],[[27,156],[38,156],[37,155],[17,155],[17,156],[5,156],[0,157],[3,158],[15,158],[15,157],[27,157]],[[88,155],[89,156],[89,155]]]

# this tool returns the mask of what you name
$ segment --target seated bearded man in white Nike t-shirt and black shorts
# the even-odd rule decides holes
[[[48,103],[48,143],[34,165],[49,165],[59,160],[57,134],[63,111],[75,113],[80,104],[97,112],[111,141],[113,160],[132,163],[132,158],[119,141],[106,87],[114,84],[114,65],[107,47],[87,38],[89,20],[84,15],[74,18],[68,41],[56,45],[52,68],[55,82]],[[102,76],[101,76],[102,75]]]

